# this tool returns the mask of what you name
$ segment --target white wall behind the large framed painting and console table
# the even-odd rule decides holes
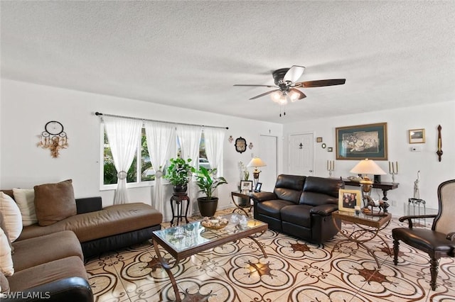
[[[414,180],[417,178],[418,170],[421,171],[420,198],[427,201],[428,208],[437,208],[437,186],[442,181],[455,179],[455,101],[284,125],[284,171],[287,171],[288,167],[287,140],[291,133],[314,131],[315,137],[322,137],[327,147],[333,147],[333,152],[327,152],[327,148],[322,149],[321,144],[315,142],[314,175],[328,177],[326,161],[336,159],[335,128],[384,122],[387,123],[388,158],[391,161],[397,161],[400,168],[399,174],[395,177],[395,182],[400,185],[387,194],[389,201],[397,203],[397,206],[390,208],[390,212],[395,216],[403,214],[404,205],[407,206],[408,198],[413,196]],[[441,162],[438,162],[436,155],[439,124],[442,127],[442,150],[444,151]],[[426,142],[410,145],[407,130],[416,128],[425,129]],[[412,146],[422,147],[422,152],[411,152]],[[388,172],[387,161],[375,162]],[[355,160],[336,160],[336,169],[332,177],[355,176],[349,171],[356,163]],[[392,181],[392,177],[390,174],[382,175],[381,181]],[[382,191],[376,191],[382,196]],[[373,192],[373,197],[377,198],[378,195]]]

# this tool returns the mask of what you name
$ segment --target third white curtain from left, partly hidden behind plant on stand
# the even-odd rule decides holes
[[[178,142],[180,142],[181,158],[191,158],[191,166],[198,169],[199,144],[202,127],[196,125],[177,125]],[[193,213],[193,203],[196,203],[198,187],[193,181],[188,184],[188,197],[190,198],[189,213]]]

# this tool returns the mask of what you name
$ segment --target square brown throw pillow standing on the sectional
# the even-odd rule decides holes
[[[36,218],[41,226],[52,225],[76,215],[73,180],[34,186]]]

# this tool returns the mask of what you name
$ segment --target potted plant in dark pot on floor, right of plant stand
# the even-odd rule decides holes
[[[218,197],[213,196],[213,192],[221,184],[228,184],[224,177],[213,177],[216,174],[216,169],[205,169],[200,166],[196,174],[196,184],[199,191],[205,196],[198,198],[198,206],[201,216],[211,217],[215,215],[218,207]]]

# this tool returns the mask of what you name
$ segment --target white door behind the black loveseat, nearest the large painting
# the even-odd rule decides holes
[[[289,135],[289,174],[312,176],[314,172],[314,134]]]

